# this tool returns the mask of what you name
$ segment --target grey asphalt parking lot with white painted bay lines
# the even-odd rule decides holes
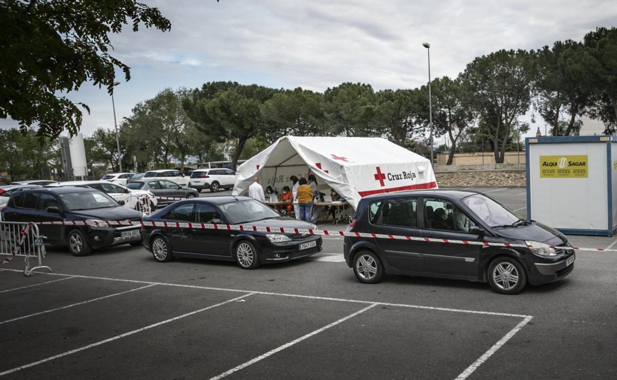
[[[526,217],[524,188],[476,190]],[[341,239],[323,247],[252,271],[159,263],[128,245],[87,257],[48,247],[54,272],[32,277],[15,259],[0,272],[0,376],[617,377],[617,252],[581,251],[565,280],[502,296],[486,283],[434,278],[363,285],[342,259]]]

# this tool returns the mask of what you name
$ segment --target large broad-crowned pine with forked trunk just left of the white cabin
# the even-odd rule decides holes
[[[503,163],[512,126],[529,110],[531,65],[528,52],[500,50],[474,59],[461,74],[473,94],[481,127],[491,135],[496,163]]]

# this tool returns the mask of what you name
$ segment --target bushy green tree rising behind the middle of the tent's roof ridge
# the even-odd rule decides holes
[[[326,89],[323,100],[331,134],[359,137],[375,134],[376,99],[370,84],[342,83]]]

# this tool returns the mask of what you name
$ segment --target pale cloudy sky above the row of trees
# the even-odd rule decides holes
[[[172,30],[113,35],[115,57],[131,67],[116,87],[118,119],[165,87],[208,81],[323,91],[342,82],[376,90],[456,76],[474,57],[498,49],[536,49],[580,40],[614,26],[617,6],[600,0],[141,0],[159,7]],[[88,103],[82,131],[114,126],[105,89],[85,85],[71,99]],[[8,125],[8,121],[2,122]],[[541,119],[532,125],[544,130]]]

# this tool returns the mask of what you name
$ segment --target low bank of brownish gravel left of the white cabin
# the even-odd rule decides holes
[[[464,171],[436,173],[437,185],[441,186],[525,186],[524,171]]]

